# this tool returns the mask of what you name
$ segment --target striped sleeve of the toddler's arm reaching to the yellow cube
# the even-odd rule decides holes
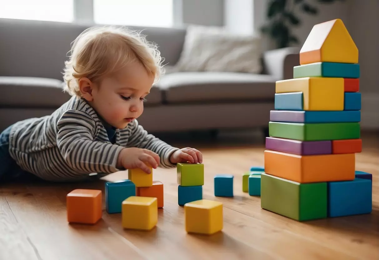
[[[117,158],[124,147],[95,141],[97,125],[88,113],[67,110],[57,127],[58,148],[72,169],[83,173],[119,171]]]

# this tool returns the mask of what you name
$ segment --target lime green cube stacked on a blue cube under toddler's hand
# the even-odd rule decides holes
[[[203,186],[204,164],[202,163],[178,163],[177,180],[180,186]]]

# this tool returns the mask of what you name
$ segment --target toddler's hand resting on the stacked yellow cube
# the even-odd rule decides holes
[[[159,162],[160,157],[157,153],[148,149],[131,147],[121,150],[119,157],[117,158],[117,168],[121,166],[125,169],[139,168],[146,173],[151,173],[147,165],[150,165],[152,168],[156,169]]]

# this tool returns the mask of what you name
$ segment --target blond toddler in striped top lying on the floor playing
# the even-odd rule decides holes
[[[29,172],[49,181],[91,173],[202,163],[193,148],[179,149],[138,124],[143,102],[163,73],[160,52],[137,32],[92,27],[72,44],[65,90],[72,97],[49,116],[17,122],[0,135],[0,178]],[[48,97],[46,97],[48,98]]]

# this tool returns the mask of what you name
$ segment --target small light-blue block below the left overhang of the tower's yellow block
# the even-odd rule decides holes
[[[303,110],[303,92],[277,93],[275,110]]]

